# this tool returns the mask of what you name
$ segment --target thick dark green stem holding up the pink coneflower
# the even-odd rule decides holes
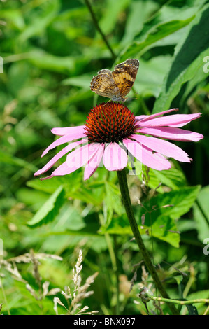
[[[130,200],[130,196],[129,196],[126,169],[124,168],[121,171],[117,171],[117,177],[118,177],[118,181],[119,181],[122,200],[123,200],[124,207],[125,207],[125,210],[127,213],[127,217],[129,219],[131,230],[134,234],[134,237],[135,237],[136,243],[138,244],[140,252],[142,253],[143,260],[145,262],[147,270],[150,272],[150,275],[152,276],[152,279],[153,279],[157,289],[159,290],[159,293],[161,294],[161,296],[169,299],[169,296],[166,293],[166,290],[164,290],[164,286],[162,285],[161,281],[159,280],[159,276],[157,275],[156,269],[152,265],[152,260],[150,258],[150,255],[149,255],[147,249],[145,248],[145,244],[143,243],[143,239],[138,230],[138,225],[136,223],[134,211],[131,206],[131,200]],[[175,315],[179,314],[178,310],[175,308],[175,305],[169,303],[168,307],[171,309],[173,314],[175,314]]]

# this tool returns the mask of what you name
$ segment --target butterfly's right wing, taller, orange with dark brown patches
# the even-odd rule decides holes
[[[127,59],[125,62],[115,66],[112,76],[115,80],[115,85],[120,90],[120,97],[124,97],[130,92],[136,80],[138,66],[138,59]]]

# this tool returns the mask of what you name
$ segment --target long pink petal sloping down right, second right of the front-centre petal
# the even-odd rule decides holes
[[[144,135],[131,135],[129,138],[135,139],[151,150],[166,155],[181,162],[190,162],[189,155],[175,144],[156,137],[147,137]]]

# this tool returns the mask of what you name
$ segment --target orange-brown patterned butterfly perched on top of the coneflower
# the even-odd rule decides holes
[[[114,71],[103,69],[92,78],[90,89],[113,102],[124,102],[136,80],[138,66],[138,59],[127,59],[117,64]]]

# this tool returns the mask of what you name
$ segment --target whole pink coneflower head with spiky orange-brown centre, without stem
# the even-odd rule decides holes
[[[185,151],[165,139],[173,141],[202,139],[202,134],[180,128],[199,118],[201,113],[163,116],[172,111],[178,109],[170,109],[151,116],[134,116],[127,106],[120,103],[106,102],[96,105],[89,112],[85,125],[52,129],[53,134],[61,137],[46,148],[42,157],[56,146],[70,144],[59,151],[34,176],[47,172],[67,153],[69,154],[66,161],[50,176],[43,179],[71,174],[85,166],[86,180],[94,174],[101,161],[106,169],[119,171],[127,167],[128,155],[133,155],[147,167],[157,170],[171,168],[167,158],[191,162],[192,159]]]

